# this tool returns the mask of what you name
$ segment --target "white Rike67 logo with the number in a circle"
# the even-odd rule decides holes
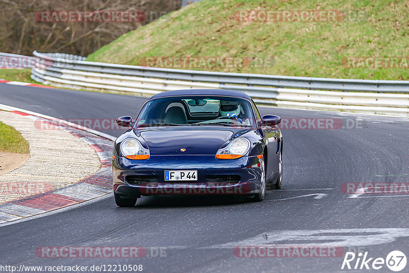
[[[406,266],[406,256],[401,251],[391,251],[386,259],[370,258],[368,252],[355,255],[353,252],[347,252],[344,257],[341,269],[381,269],[384,265],[392,271],[401,271]]]

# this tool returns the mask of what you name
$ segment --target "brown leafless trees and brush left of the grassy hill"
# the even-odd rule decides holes
[[[0,51],[31,55],[37,50],[86,56],[180,5],[181,0],[0,0]],[[45,11],[139,12],[138,20],[129,22],[38,20]],[[53,13],[49,14],[52,19]]]

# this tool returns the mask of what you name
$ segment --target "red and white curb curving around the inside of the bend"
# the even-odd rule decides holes
[[[33,119],[41,118],[43,122],[58,121],[59,119],[47,119],[39,113],[0,104],[0,109],[12,111],[24,116],[32,116]],[[59,120],[59,122],[62,122]],[[81,130],[78,129],[81,127]],[[24,197],[0,204],[0,226],[9,224],[11,221],[22,220],[27,217],[43,214],[46,212],[62,209],[81,202],[103,197],[112,192],[112,140],[115,137],[106,135],[109,139],[93,134],[92,129],[78,126],[76,128],[64,128],[75,137],[92,147],[101,161],[101,169],[75,184],[48,192]],[[103,134],[105,135],[105,134]],[[68,164],[68,163],[67,163]]]

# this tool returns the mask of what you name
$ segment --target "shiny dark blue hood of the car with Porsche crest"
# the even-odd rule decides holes
[[[135,132],[141,134],[151,155],[214,155],[233,135],[247,130],[249,129],[175,126],[146,128]]]

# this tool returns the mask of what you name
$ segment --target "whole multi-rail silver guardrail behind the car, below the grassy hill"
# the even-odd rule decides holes
[[[83,57],[58,53],[35,51],[33,54],[41,61],[32,69],[31,77],[54,86],[132,92],[141,96],[173,89],[232,89],[268,105],[409,116],[409,81],[163,69],[88,62]]]

